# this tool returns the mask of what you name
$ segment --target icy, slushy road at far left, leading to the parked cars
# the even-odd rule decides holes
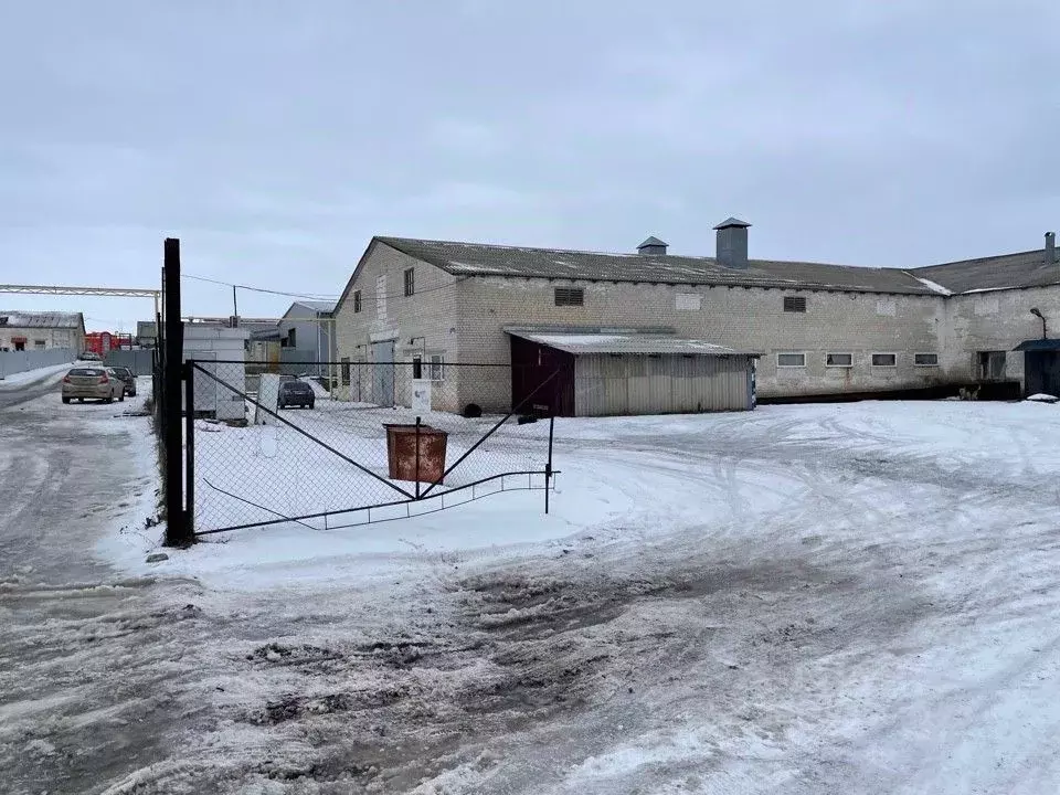
[[[103,792],[161,759],[174,722],[160,660],[179,658],[166,642],[181,633],[159,606],[166,586],[93,556],[153,488],[130,460],[147,420],[121,416],[129,401],[62,405],[57,380],[0,392],[0,791],[12,795]]]

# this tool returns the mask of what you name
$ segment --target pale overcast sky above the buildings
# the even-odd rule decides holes
[[[0,282],[155,286],[171,235],[188,274],[337,295],[373,234],[712,255],[728,215],[752,257],[1035,248],[1058,32],[1056,0],[4,2]]]

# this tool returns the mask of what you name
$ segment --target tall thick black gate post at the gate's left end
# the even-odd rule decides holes
[[[166,358],[162,360],[165,414],[162,434],[166,439],[166,545],[181,547],[192,541],[184,520],[183,445],[180,425],[180,369],[183,358],[184,329],[180,322],[180,241],[166,239]]]

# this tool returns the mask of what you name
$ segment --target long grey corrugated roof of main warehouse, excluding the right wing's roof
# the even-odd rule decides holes
[[[746,268],[736,271],[721,265],[714,257],[604,254],[405,237],[378,237],[377,240],[457,276],[541,277],[589,282],[732,285],[937,295],[914,276],[898,268],[751,259]]]

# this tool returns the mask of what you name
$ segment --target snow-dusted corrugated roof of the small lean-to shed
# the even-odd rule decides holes
[[[693,356],[757,356],[706,340],[681,339],[659,329],[637,328],[555,328],[511,326],[505,331],[520,339],[544,344],[566,353],[681,353]]]

